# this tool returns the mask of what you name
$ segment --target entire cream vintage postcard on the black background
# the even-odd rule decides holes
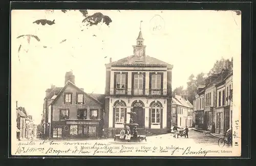
[[[241,11],[12,10],[14,156],[241,156]]]

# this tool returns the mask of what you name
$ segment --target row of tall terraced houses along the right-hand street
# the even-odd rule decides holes
[[[232,126],[232,78],[232,68],[224,68],[198,87],[193,102],[195,128],[223,134]]]

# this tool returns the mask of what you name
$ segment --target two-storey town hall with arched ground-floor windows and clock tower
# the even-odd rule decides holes
[[[105,117],[106,134],[118,133],[135,112],[139,132],[166,133],[171,126],[173,65],[147,56],[142,32],[133,55],[106,67]]]

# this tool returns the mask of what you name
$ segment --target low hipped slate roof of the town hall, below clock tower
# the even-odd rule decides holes
[[[150,57],[150,56],[144,56],[144,57],[137,57],[135,55],[125,57],[123,59],[120,59],[118,61],[114,61],[112,63],[109,63],[107,65],[152,65],[152,66],[172,66],[166,62],[163,62],[161,60],[158,60],[156,58]]]

